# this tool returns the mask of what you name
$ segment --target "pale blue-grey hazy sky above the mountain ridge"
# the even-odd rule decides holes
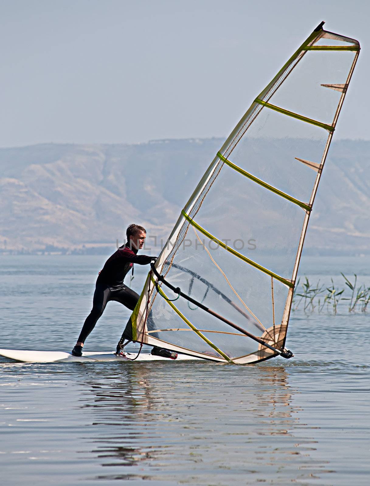
[[[0,147],[226,138],[321,20],[362,47],[335,139],[370,139],[369,3],[0,0]]]

